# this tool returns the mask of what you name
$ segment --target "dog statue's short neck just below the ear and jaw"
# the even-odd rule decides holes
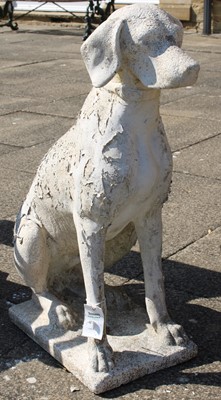
[[[118,72],[114,78],[104,86],[105,90],[115,93],[125,102],[159,102],[160,90],[145,87],[132,74]]]

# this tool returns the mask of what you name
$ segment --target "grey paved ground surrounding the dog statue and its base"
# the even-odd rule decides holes
[[[15,215],[51,144],[74,123],[90,90],[76,26],[0,29],[0,399],[221,398],[221,35],[187,31],[201,64],[194,87],[165,90],[161,113],[173,151],[172,191],[163,210],[163,266],[174,320],[198,356],[95,396],[12,324],[8,309],[30,298],[12,261]],[[144,304],[139,249],[112,279]]]

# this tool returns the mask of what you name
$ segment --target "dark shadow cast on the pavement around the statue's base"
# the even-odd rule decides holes
[[[12,221],[1,221],[1,243],[11,246]],[[155,389],[169,384],[200,384],[220,386],[221,372],[188,371],[191,368],[209,365],[221,359],[221,315],[216,310],[216,297],[221,295],[221,274],[196,266],[182,264],[172,260],[163,262],[168,308],[171,317],[183,325],[188,336],[198,345],[199,354],[196,359],[164,371],[145,376],[133,383],[122,386],[103,394],[103,398],[120,397],[143,388]],[[131,251],[109,271],[112,274],[126,277],[125,291],[132,296],[133,301],[144,306],[144,285],[142,281],[142,265],[140,254]],[[39,346],[15,327],[9,319],[8,308],[31,297],[31,290],[26,286],[11,282],[7,273],[0,272],[0,323],[3,325],[0,333],[2,360],[8,358],[12,351],[14,359],[25,358],[27,347],[32,349],[32,357],[45,364],[59,364],[47,355]],[[133,281],[134,280],[134,281]],[[26,343],[21,355],[21,344]],[[39,357],[39,351],[41,356]],[[18,354],[18,356],[16,356]],[[13,358],[11,358],[13,363]],[[0,369],[6,370],[7,362],[0,363]],[[11,365],[10,365],[11,367]],[[185,372],[185,370],[187,372]],[[205,369],[205,368],[204,368]],[[198,368],[199,370],[199,368]]]

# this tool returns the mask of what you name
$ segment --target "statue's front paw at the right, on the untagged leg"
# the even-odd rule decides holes
[[[164,324],[159,324],[155,329],[162,344],[167,346],[185,346],[189,342],[181,325],[170,321]]]

